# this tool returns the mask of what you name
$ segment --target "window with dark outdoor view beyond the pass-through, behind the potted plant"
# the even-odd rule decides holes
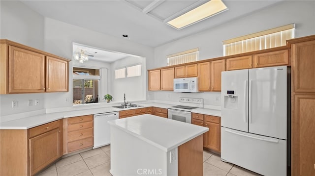
[[[100,70],[73,68],[73,104],[98,103]]]

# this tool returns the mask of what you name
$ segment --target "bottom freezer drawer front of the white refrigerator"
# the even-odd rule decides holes
[[[221,128],[221,160],[263,176],[286,176],[286,140]]]

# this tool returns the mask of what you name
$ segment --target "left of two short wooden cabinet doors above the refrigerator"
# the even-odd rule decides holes
[[[240,70],[252,68],[252,55],[226,59],[226,70]]]

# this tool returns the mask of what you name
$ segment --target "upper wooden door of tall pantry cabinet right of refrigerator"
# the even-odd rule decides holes
[[[315,41],[292,44],[294,92],[315,92]]]

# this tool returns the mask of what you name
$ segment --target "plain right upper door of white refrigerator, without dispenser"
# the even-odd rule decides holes
[[[286,66],[249,70],[249,132],[286,139]]]

